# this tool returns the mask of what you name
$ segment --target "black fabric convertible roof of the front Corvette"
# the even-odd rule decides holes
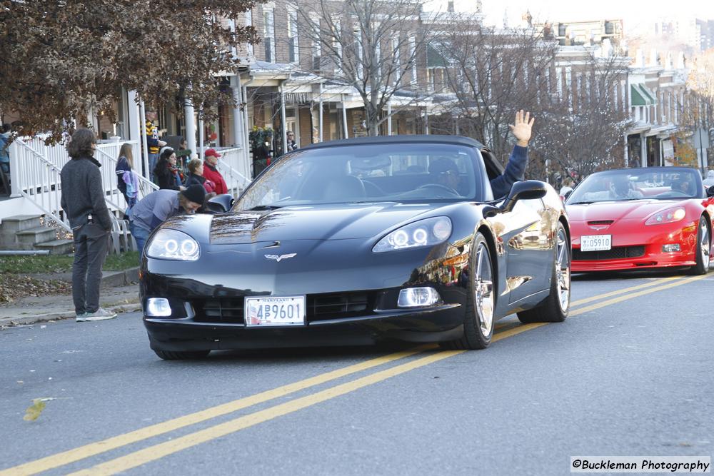
[[[301,148],[301,150],[339,146],[362,146],[366,144],[381,143],[448,143],[458,146],[476,147],[479,151],[481,151],[481,156],[483,156],[483,161],[486,165],[489,177],[493,178],[493,176],[498,176],[503,173],[503,166],[496,160],[496,157],[493,156],[493,153],[491,153],[491,150],[488,147],[484,146],[481,142],[476,141],[476,139],[464,136],[403,134],[398,136],[355,137],[350,139],[338,139],[336,141],[313,143],[309,146]]]

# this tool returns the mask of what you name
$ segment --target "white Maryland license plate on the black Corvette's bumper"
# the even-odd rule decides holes
[[[246,298],[246,326],[305,325],[305,296]]]

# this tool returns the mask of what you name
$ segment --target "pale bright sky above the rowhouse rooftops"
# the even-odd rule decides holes
[[[504,10],[508,11],[511,24],[518,24],[521,15],[531,11],[535,19],[551,21],[577,21],[593,19],[623,19],[625,31],[638,30],[648,24],[647,20],[690,16],[699,19],[714,19],[712,0],[481,0],[487,24],[503,25]],[[455,0],[456,9],[475,5],[476,0]],[[643,21],[645,20],[645,21]],[[634,31],[633,31],[634,32]]]

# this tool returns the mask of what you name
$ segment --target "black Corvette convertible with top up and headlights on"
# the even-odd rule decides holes
[[[224,213],[176,216],[141,261],[151,348],[368,344],[485,348],[494,321],[562,321],[570,232],[558,194],[453,136],[331,141],[286,154]],[[228,209],[230,208],[230,209]]]

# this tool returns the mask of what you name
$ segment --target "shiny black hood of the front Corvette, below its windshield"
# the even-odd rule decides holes
[[[210,239],[216,244],[240,244],[370,238],[399,223],[433,216],[429,212],[441,206],[444,204],[385,202],[291,206],[271,211],[227,213],[213,217]]]

